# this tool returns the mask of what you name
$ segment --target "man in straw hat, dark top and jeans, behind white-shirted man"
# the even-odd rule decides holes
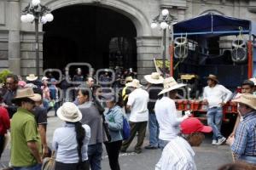
[[[147,91],[149,94],[148,102],[148,129],[149,129],[149,144],[145,146],[145,149],[154,150],[158,149],[158,135],[159,135],[159,124],[156,121],[154,113],[155,101],[158,99],[158,94],[160,93],[164,78],[160,76],[160,73],[153,72],[151,75],[144,77],[148,82]]]

